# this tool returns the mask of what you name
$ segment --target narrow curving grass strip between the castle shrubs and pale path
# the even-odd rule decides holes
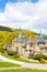
[[[25,60],[23,58],[15,58],[14,55],[8,55],[5,53],[1,53],[3,56],[12,59],[12,60],[16,60],[16,61],[21,61],[21,62],[26,62],[26,63],[39,63],[39,62],[31,62],[28,60]]]

